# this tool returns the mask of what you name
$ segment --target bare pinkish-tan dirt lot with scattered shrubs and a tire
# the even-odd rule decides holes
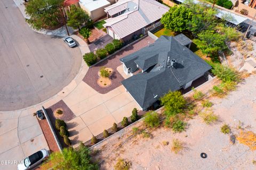
[[[118,158],[131,161],[131,169],[256,169],[252,163],[256,160],[256,152],[238,141],[231,144],[229,135],[220,132],[225,123],[234,134],[239,132],[238,125],[256,132],[255,81],[256,76],[252,75],[226,98],[211,100],[214,114],[220,117],[216,124],[206,125],[196,116],[189,120],[186,132],[173,133],[171,129],[161,127],[150,132],[148,139],[140,135],[129,137],[132,135],[132,127],[129,127],[121,135],[96,146],[95,149],[100,151],[94,159],[101,160],[101,169],[114,169]],[[134,126],[141,125],[140,122]],[[173,139],[185,144],[185,149],[178,154],[171,151]],[[164,145],[163,141],[170,144]],[[201,158],[201,152],[207,153],[207,158]]]

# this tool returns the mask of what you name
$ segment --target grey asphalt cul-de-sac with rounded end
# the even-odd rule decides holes
[[[0,23],[0,111],[49,99],[77,75],[79,48],[35,33],[13,1],[0,1]]]

